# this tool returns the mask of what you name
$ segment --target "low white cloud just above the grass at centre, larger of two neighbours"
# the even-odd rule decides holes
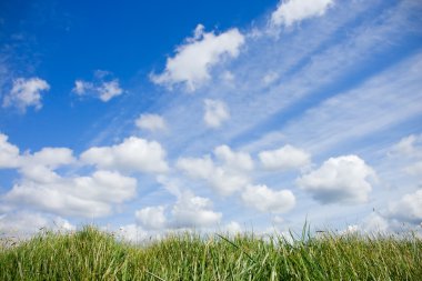
[[[183,192],[171,211],[173,227],[215,227],[220,222],[222,213],[212,211],[211,207],[210,199],[195,197],[191,192]]]

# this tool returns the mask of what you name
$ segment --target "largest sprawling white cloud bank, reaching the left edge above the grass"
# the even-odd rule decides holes
[[[117,171],[100,170],[86,177],[60,175],[57,169],[78,163],[68,148],[43,148],[19,154],[19,149],[7,142],[7,136],[0,134],[0,149],[1,160],[13,162],[7,168],[17,169],[22,175],[0,195],[4,210],[29,208],[60,215],[97,218],[110,214],[114,205],[135,195],[137,179]]]

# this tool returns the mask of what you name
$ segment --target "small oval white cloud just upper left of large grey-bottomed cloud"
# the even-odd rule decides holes
[[[311,163],[311,155],[305,151],[287,144],[277,150],[259,153],[262,165],[268,170],[289,170]]]

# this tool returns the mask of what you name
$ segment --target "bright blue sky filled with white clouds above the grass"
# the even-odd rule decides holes
[[[0,234],[422,233],[419,0],[1,1]]]

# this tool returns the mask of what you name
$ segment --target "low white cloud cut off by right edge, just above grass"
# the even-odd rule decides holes
[[[411,223],[422,222],[422,189],[404,194],[398,202],[389,205],[389,215]]]

